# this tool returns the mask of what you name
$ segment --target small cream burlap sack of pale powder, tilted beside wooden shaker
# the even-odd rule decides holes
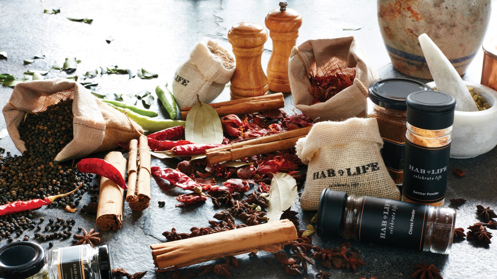
[[[191,107],[198,100],[212,102],[235,72],[235,58],[209,38],[198,42],[190,58],[174,73],[172,94],[180,107]]]

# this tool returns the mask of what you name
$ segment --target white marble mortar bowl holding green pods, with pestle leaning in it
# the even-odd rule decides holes
[[[464,81],[466,86],[475,88],[489,105],[483,111],[456,111],[452,126],[451,158],[472,158],[494,149],[497,145],[497,91],[477,82]],[[430,88],[435,82],[426,83]]]

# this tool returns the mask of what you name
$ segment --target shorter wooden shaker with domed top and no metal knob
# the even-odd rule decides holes
[[[230,85],[231,98],[267,94],[267,77],[260,63],[264,43],[267,41],[266,29],[258,23],[237,23],[228,32],[228,41],[233,46],[236,60]]]

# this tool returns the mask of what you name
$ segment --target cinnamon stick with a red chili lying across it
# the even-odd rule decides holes
[[[114,165],[124,177],[126,159],[123,154],[113,151],[105,155],[104,160]],[[117,186],[112,180],[100,178],[100,194],[96,211],[96,226],[100,230],[118,230],[123,224],[124,189]]]

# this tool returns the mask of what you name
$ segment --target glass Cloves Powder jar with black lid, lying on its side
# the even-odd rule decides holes
[[[324,189],[316,232],[363,242],[449,254],[456,211]]]

